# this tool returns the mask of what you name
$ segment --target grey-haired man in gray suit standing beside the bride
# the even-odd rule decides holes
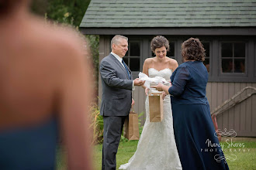
[[[145,82],[133,80],[132,73],[123,56],[128,50],[128,39],[116,35],[111,40],[112,52],[102,59],[99,70],[102,78],[102,106],[104,133],[102,147],[102,170],[116,170],[116,152],[123,131],[123,123],[130,113],[132,90]]]

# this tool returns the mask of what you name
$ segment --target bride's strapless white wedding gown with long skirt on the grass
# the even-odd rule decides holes
[[[170,69],[155,70],[150,68],[148,74],[150,77],[161,76],[170,81]],[[146,105],[146,121],[140,140],[137,145],[137,151],[129,162],[121,165],[119,169],[129,170],[172,170],[182,169],[178,157],[178,151],[175,143],[173,131],[173,121],[171,112],[170,96],[164,98],[164,119],[161,122],[150,122],[148,97]]]

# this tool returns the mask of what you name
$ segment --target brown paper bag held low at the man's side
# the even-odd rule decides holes
[[[126,118],[123,124],[123,136],[128,140],[139,140],[139,118],[138,114],[134,111],[130,111],[129,116]]]

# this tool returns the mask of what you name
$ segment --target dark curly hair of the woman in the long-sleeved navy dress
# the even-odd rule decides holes
[[[190,38],[182,43],[183,60],[204,61],[206,49],[203,48],[199,39]]]

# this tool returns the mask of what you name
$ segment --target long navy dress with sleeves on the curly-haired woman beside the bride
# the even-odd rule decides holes
[[[182,63],[171,75],[171,108],[182,168],[229,169],[206,98],[208,73],[200,61]]]

